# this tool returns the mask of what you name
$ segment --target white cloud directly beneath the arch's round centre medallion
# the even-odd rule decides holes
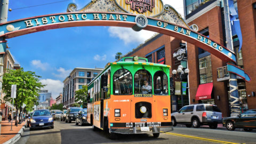
[[[119,39],[122,39],[125,44],[131,42],[144,43],[148,38],[155,34],[155,32],[148,30],[141,30],[137,32],[131,28],[123,27],[109,27],[108,32],[111,37],[118,37]]]

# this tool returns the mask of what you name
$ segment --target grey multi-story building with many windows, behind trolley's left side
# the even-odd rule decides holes
[[[89,84],[103,69],[102,68],[75,68],[63,81],[63,105],[71,107],[75,102],[75,91]]]

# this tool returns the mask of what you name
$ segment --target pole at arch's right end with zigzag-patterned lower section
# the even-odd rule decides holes
[[[225,32],[226,32],[226,43],[227,48],[234,52],[233,47],[233,38],[232,38],[232,31],[230,25],[230,13],[229,13],[229,6],[228,0],[223,0],[223,8],[224,8],[224,17],[225,17]],[[236,65],[234,62],[232,64]],[[233,73],[229,73],[229,91],[230,91],[230,100],[231,100],[231,116],[237,116],[240,114],[240,103],[239,103],[239,95],[238,95],[238,86],[237,86],[237,78],[236,75]]]

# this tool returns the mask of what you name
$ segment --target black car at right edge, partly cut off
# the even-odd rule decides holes
[[[256,129],[256,109],[246,110],[237,117],[226,117],[222,119],[222,124],[229,131],[234,131],[236,128],[242,128],[246,132]]]

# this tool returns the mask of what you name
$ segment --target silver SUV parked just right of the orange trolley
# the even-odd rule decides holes
[[[173,126],[185,124],[187,127],[198,128],[201,125],[209,125],[211,129],[217,129],[222,122],[222,113],[215,105],[196,104],[182,107],[178,112],[171,114]]]

